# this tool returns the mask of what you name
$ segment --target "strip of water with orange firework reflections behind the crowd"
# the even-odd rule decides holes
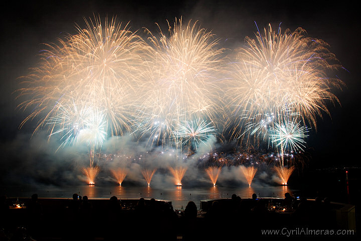
[[[258,197],[279,197],[284,198],[284,194],[289,192],[292,196],[297,195],[295,190],[287,186],[246,186],[246,187],[198,187],[187,188],[184,186],[173,186],[167,188],[146,187],[127,187],[127,186],[69,186],[69,187],[21,187],[9,188],[8,197],[31,197],[33,193],[38,193],[39,197],[71,198],[73,193],[79,193],[81,196],[87,195],[89,199],[106,198],[117,196],[118,198],[155,198],[169,200],[174,209],[179,209],[182,205],[187,206],[189,201],[194,201],[200,207],[201,200],[231,198],[236,194],[241,198],[251,198],[253,193]]]

